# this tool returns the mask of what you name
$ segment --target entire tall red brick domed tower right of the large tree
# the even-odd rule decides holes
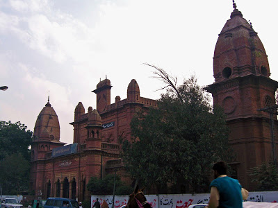
[[[254,188],[247,171],[270,159],[270,125],[259,109],[275,104],[278,83],[270,79],[268,56],[252,24],[236,8],[219,34],[213,57],[215,83],[206,87],[223,107],[237,155],[234,169],[243,186]],[[277,119],[277,118],[274,118]]]

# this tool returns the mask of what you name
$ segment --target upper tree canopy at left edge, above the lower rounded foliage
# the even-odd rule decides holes
[[[27,130],[27,126],[17,121],[0,121],[0,159],[13,153],[21,155],[30,161],[29,146],[32,142],[33,132]]]

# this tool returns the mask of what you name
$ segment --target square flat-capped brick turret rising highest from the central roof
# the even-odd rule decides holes
[[[106,106],[111,104],[111,83],[107,78],[97,84],[97,89],[93,90],[97,94],[97,110],[104,112]]]

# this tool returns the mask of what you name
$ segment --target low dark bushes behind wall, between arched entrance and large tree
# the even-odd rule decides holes
[[[91,177],[87,189],[93,195],[112,195],[114,188],[114,174],[106,175],[102,180],[97,177]],[[115,178],[115,195],[126,195],[132,193],[133,189],[126,186],[121,181],[120,176]]]

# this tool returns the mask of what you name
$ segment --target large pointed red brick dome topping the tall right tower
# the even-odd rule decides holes
[[[263,44],[235,3],[231,19],[222,28],[215,45],[213,72],[216,83],[249,74],[270,76]]]

